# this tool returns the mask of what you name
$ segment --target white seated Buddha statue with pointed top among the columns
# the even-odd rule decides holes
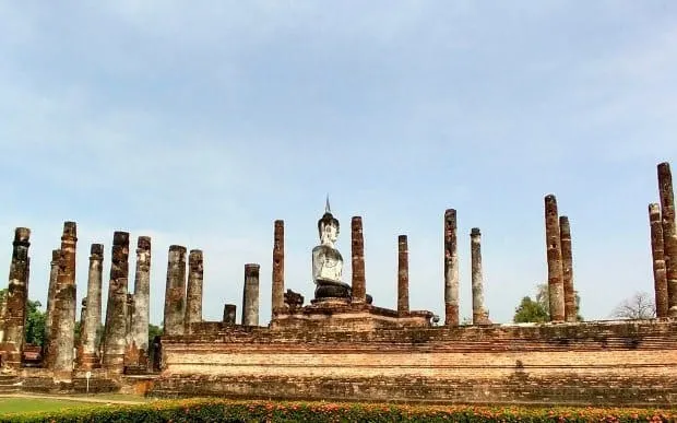
[[[316,284],[316,299],[351,297],[351,285],[341,281],[343,257],[334,247],[339,230],[339,220],[332,215],[328,199],[324,215],[318,221],[320,245],[312,249],[312,281]]]

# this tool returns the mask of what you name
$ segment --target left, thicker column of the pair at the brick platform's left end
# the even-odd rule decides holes
[[[183,334],[186,310],[186,247],[169,246],[167,262],[167,287],[165,290],[165,318],[163,332],[166,336]]]

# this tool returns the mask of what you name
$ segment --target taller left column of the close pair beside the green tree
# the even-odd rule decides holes
[[[548,301],[550,321],[565,321],[565,285],[562,281],[562,252],[559,234],[557,199],[545,197],[545,236],[548,258]]]

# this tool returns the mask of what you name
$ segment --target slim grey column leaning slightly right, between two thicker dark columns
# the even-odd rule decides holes
[[[92,244],[90,249],[90,271],[87,275],[86,310],[81,322],[79,363],[83,369],[99,366],[96,331],[102,324],[104,245]]]

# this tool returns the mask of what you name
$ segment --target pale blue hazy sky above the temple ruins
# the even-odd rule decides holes
[[[107,285],[124,230],[132,251],[153,239],[152,321],[179,244],[204,250],[205,319],[224,303],[239,315],[244,265],[259,262],[265,324],[273,221],[286,287],[309,301],[328,192],[346,281],[363,216],[380,306],[396,305],[407,234],[411,306],[443,314],[455,208],[461,315],[477,226],[486,306],[510,321],[547,279],[550,192],[585,318],[653,293],[646,205],[655,165],[677,166],[675,2],[0,0],[0,269],[13,228],[31,227],[32,298],[72,220],[79,296],[90,244],[106,246]]]

